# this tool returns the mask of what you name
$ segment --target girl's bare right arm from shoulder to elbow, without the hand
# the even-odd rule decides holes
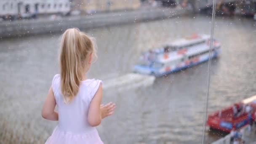
[[[89,106],[88,123],[91,126],[97,126],[101,123],[101,110],[100,110],[101,99],[102,99],[102,85],[100,84]]]

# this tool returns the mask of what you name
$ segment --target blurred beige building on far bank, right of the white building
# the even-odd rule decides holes
[[[86,13],[134,10],[140,7],[140,0],[72,0],[74,8]]]

